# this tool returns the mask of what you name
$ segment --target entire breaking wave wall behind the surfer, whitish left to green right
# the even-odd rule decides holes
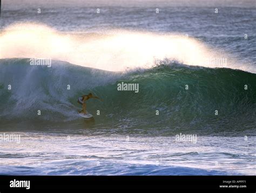
[[[92,127],[168,135],[253,132],[256,125],[256,75],[240,70],[165,65],[112,73],[59,61],[31,67],[26,59],[1,60],[0,69],[0,118],[6,123],[80,123],[77,98],[93,92],[103,102],[87,102]],[[118,90],[122,82],[138,84],[138,93]]]

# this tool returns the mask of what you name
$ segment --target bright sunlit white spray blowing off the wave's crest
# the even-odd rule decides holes
[[[114,72],[149,69],[166,59],[189,66],[256,72],[253,66],[179,34],[125,30],[61,33],[42,24],[20,23],[4,28],[0,49],[0,59],[50,58]]]

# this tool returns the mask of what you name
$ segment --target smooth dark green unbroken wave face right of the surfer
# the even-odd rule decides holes
[[[118,91],[121,82],[138,83],[139,92]],[[103,113],[112,115],[113,124],[203,134],[253,130],[255,83],[255,74],[238,70],[164,66],[132,74],[95,92],[105,94]]]

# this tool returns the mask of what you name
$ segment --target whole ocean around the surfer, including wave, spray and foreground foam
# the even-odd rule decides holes
[[[255,18],[253,1],[2,2],[0,174],[255,175]]]

